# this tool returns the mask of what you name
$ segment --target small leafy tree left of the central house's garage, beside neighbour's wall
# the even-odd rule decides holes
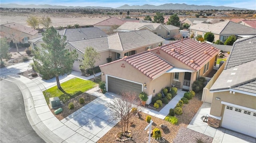
[[[97,61],[100,61],[100,54],[93,49],[93,47],[87,47],[84,52],[84,59],[82,60],[82,69],[92,69],[92,73],[94,75],[94,80],[96,78],[95,76],[95,63]]]

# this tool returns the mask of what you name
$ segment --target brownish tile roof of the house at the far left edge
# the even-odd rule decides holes
[[[26,27],[26,26],[21,25],[21,24],[17,24],[15,22],[12,22],[12,23],[9,23],[9,24],[3,24],[1,26],[16,29],[16,30],[21,31],[23,33],[27,33],[29,35],[35,35],[36,33],[38,33],[38,30],[35,30],[33,28],[30,28],[30,27]]]

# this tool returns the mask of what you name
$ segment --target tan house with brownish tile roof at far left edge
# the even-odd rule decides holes
[[[8,37],[8,34],[14,34],[19,37],[19,41],[13,41],[14,43],[28,43],[29,39],[38,37],[38,30],[15,22],[1,25],[0,31],[3,37]]]

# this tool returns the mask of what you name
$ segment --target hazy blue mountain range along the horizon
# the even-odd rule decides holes
[[[0,4],[1,8],[91,8],[91,9],[119,9],[119,10],[248,10],[246,8],[234,8],[228,6],[197,6],[197,5],[188,5],[188,4],[162,4],[160,6],[154,6],[150,4],[144,4],[143,6],[129,6],[125,4],[118,8],[110,7],[101,7],[101,6],[52,6],[49,4],[29,4],[29,5],[20,5],[20,4]]]

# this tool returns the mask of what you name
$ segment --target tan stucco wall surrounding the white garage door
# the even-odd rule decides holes
[[[220,98],[220,100],[216,100],[216,97]],[[225,105],[221,104],[222,101],[251,109],[256,109],[256,96],[250,96],[238,92],[235,92],[235,94],[230,94],[229,91],[214,92],[210,115],[218,117],[223,116]]]

